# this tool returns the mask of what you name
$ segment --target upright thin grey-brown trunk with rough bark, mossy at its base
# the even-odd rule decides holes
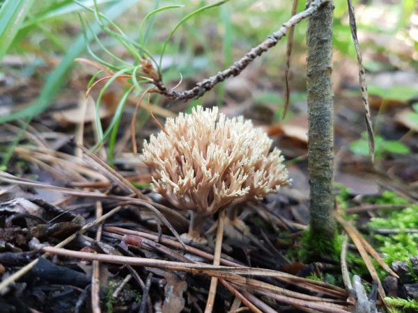
[[[311,249],[315,247],[311,251],[314,255],[332,252],[334,238],[333,10],[333,1],[323,4],[309,17],[307,29],[308,165],[311,188],[308,241]]]

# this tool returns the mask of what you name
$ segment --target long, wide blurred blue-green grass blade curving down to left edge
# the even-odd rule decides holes
[[[122,15],[126,10],[132,8],[132,4],[136,0],[124,0],[114,3],[112,6],[109,6],[107,10],[107,15],[110,18],[115,19],[116,17]],[[2,7],[3,8],[3,7]],[[100,26],[95,23],[91,27],[95,33],[100,32]],[[88,37],[89,40],[92,40],[92,36]],[[86,41],[84,40],[84,35],[80,34],[77,39],[72,43],[70,49],[68,49],[67,54],[65,54],[61,63],[48,75],[45,86],[42,88],[40,96],[35,103],[26,106],[26,108],[10,113],[8,115],[0,116],[0,123],[10,122],[11,120],[17,120],[22,118],[31,118],[35,115],[38,115],[48,109],[52,104],[53,99],[58,95],[59,90],[65,83],[65,79],[68,76],[72,65],[74,64],[74,59],[77,58],[83,51],[86,49]]]

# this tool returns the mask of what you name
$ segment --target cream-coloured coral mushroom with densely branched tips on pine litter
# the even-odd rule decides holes
[[[189,236],[200,236],[204,220],[220,209],[261,199],[288,182],[284,158],[263,129],[250,120],[226,118],[197,106],[168,118],[141,155],[153,172],[153,190],[174,207],[192,211]]]

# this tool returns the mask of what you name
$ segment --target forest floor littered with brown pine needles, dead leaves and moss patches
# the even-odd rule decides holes
[[[283,152],[292,179],[263,201],[242,205],[239,218],[247,231],[225,230],[220,259],[214,257],[212,226],[221,214],[206,220],[207,244],[185,245],[178,234],[187,232],[188,213],[150,190],[150,170],[132,152],[137,99],[125,106],[113,166],[106,148],[95,154],[85,148],[98,141],[99,90],[84,97],[93,69],[76,67],[47,111],[30,122],[0,125],[0,312],[204,312],[213,278],[212,312],[352,312],[350,290],[361,287],[349,286],[344,275],[359,276],[369,295],[364,299],[379,312],[418,312],[418,71],[395,66],[379,52],[367,59],[385,64],[368,74],[376,161],[371,163],[362,135],[357,64],[336,52],[338,252],[316,262],[304,259],[301,249],[309,223],[304,61],[292,66],[286,119],[279,105],[283,81],[272,80],[261,62],[199,100],[214,106],[215,95],[224,93],[220,111],[263,127]],[[3,60],[8,74],[0,77],[0,115],[38,97],[42,74],[55,60],[47,58],[47,65],[23,75],[31,62]],[[199,75],[179,89],[206,77]],[[102,97],[104,128],[121,90],[115,82]],[[164,124],[196,102],[157,97],[152,104]],[[144,103],[136,127],[139,152],[159,130]]]

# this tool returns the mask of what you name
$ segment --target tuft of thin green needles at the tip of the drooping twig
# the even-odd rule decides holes
[[[99,64],[98,66],[98,73],[94,75],[94,79],[97,79],[100,74],[102,74],[103,69],[102,67],[107,67],[107,72],[110,73],[109,77],[106,77],[106,83],[104,83],[104,86],[100,89],[98,99],[96,100],[96,111],[98,112],[100,110],[101,105],[101,99],[104,96],[104,94],[107,91],[107,88],[111,86],[112,83],[116,80],[120,79],[127,79],[125,81],[125,90],[123,92],[123,96],[121,97],[121,101],[118,104],[118,107],[116,109],[116,112],[114,114],[114,117],[112,118],[109,127],[107,127],[106,130],[102,128],[102,124],[100,121],[100,115],[96,114],[96,125],[97,125],[97,134],[98,134],[98,142],[94,145],[93,150],[97,149],[100,145],[102,145],[108,138],[109,139],[109,162],[112,163],[113,161],[113,154],[114,154],[114,146],[116,143],[116,138],[118,134],[118,128],[121,122],[122,114],[123,114],[123,108],[125,106],[125,102],[127,101],[127,98],[131,93],[146,93],[147,90],[144,91],[144,86],[146,83],[149,83],[159,73],[161,75],[161,62],[162,62],[162,56],[164,56],[164,51],[166,47],[168,46],[171,38],[173,37],[173,34],[176,32],[176,30],[184,24],[188,19],[194,17],[195,15],[208,10],[210,8],[215,8],[217,6],[220,6],[222,3],[226,2],[228,0],[222,0],[218,1],[216,3],[212,3],[208,6],[203,6],[201,8],[198,8],[197,10],[194,10],[192,13],[189,13],[183,19],[176,24],[176,26],[171,30],[171,32],[168,35],[167,40],[165,40],[164,45],[161,49],[160,54],[160,62],[157,63],[155,59],[153,58],[153,54],[151,54],[147,49],[148,40],[150,37],[150,31],[152,29],[153,25],[153,19],[158,13],[162,13],[166,10],[170,10],[173,8],[180,8],[182,6],[178,5],[172,5],[172,6],[163,6],[161,8],[158,8],[158,5],[160,1],[157,1],[157,8],[155,10],[152,10],[150,13],[148,13],[144,19],[142,19],[141,24],[139,25],[139,42],[135,42],[134,40],[130,39],[125,33],[122,31],[122,29],[116,25],[114,22],[107,17],[106,14],[100,13],[97,3],[93,6],[93,8],[88,8],[87,6],[83,6],[82,3],[77,1],[80,5],[82,5],[86,10],[93,13],[96,22],[104,31],[104,33],[107,33],[110,38],[113,38],[117,42],[121,44],[122,47],[125,48],[125,50],[131,54],[131,56],[134,59],[134,62],[127,63],[126,61],[122,60],[121,58],[118,58],[116,55],[112,54],[109,49],[104,47],[102,44],[100,38],[96,34],[95,31],[92,31],[91,27],[88,25],[88,23],[84,22],[84,19],[81,18],[82,27],[84,30],[85,35],[90,35],[91,38],[94,39],[95,43],[99,45],[99,47],[102,49],[102,52],[107,54],[107,57],[111,59],[110,62],[105,61],[104,58],[100,58],[97,54],[93,52],[93,49],[91,49],[90,46],[87,47],[88,52],[91,54],[91,56],[97,61]],[[146,27],[146,24],[147,27]],[[146,27],[146,30],[144,31],[144,28]],[[86,38],[86,42],[88,42]],[[154,67],[156,70],[154,70]],[[92,79],[88,86],[91,88],[93,86],[94,80]]]

